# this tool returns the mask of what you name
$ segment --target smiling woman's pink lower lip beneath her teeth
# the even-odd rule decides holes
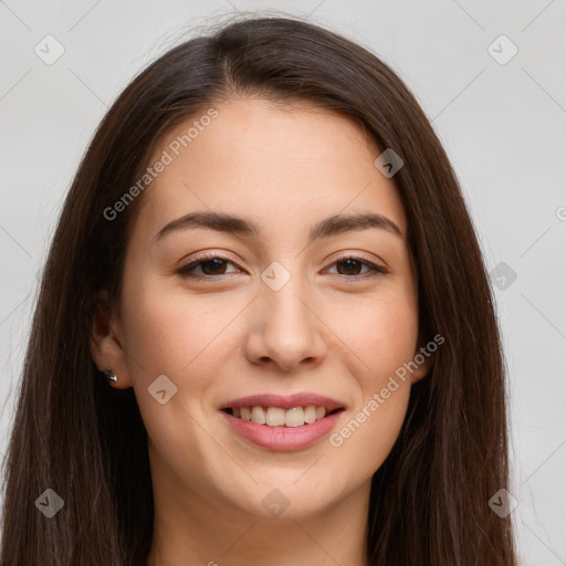
[[[243,438],[270,450],[301,450],[314,444],[327,434],[344,410],[334,412],[324,419],[301,427],[270,427],[250,420],[233,417],[221,411],[232,428]]]

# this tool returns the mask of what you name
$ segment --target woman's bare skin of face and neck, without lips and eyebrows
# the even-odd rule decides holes
[[[296,451],[256,447],[219,407],[252,394],[313,391],[346,407],[336,431],[419,353],[403,207],[394,180],[374,166],[380,149],[350,118],[259,98],[216,108],[143,195],[119,305],[101,308],[93,324],[95,363],[114,369],[114,387],[134,387],[148,431],[156,509],[148,565],[361,566],[371,475],[431,358],[338,448],[328,438]],[[170,133],[151,163],[191,123]],[[210,210],[247,217],[261,235],[186,228],[154,241],[171,220]],[[368,211],[402,237],[369,228],[307,245],[317,220]],[[206,250],[228,259],[193,271],[208,281],[177,273]],[[390,273],[336,263],[344,252]],[[261,280],[274,261],[291,274],[279,291]],[[164,405],[148,394],[160,375],[177,387]],[[273,489],[289,501],[276,517],[262,505]]]

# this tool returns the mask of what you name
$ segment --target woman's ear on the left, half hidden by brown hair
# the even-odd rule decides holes
[[[120,318],[106,291],[98,293],[95,301],[91,327],[91,355],[99,371],[112,368],[117,381],[108,381],[116,389],[132,387],[132,379],[123,347]]]

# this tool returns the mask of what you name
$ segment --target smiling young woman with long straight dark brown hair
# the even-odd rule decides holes
[[[283,18],[102,122],[45,265],[2,565],[516,564],[500,336],[413,96]]]

